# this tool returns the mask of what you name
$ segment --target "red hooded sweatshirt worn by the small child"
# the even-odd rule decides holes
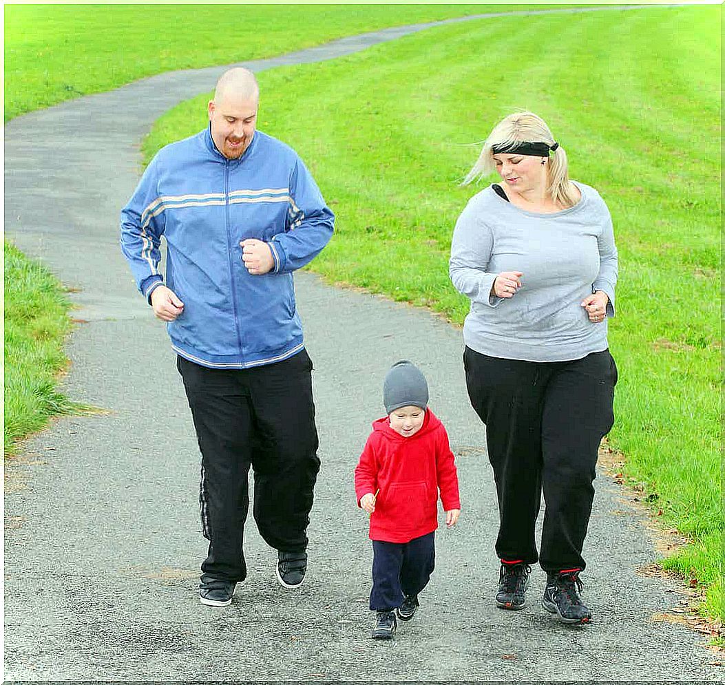
[[[370,539],[408,542],[438,528],[438,491],[444,511],[460,509],[455,458],[443,424],[426,410],[421,430],[404,438],[388,417],[373,423],[355,467],[357,506],[380,489],[370,516]]]

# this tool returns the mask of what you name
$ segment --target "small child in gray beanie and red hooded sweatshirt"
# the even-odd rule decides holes
[[[446,524],[460,514],[458,476],[448,434],[427,409],[428,383],[411,362],[394,364],[383,386],[386,418],[373,423],[355,467],[357,504],[370,515],[373,638],[392,638],[397,621],[418,610],[434,568],[440,489]]]

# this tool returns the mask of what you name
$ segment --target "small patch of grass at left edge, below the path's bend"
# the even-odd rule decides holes
[[[70,303],[45,267],[5,242],[5,425],[4,454],[17,441],[44,428],[53,415],[80,407],[56,389],[66,368],[63,349],[70,332]]]

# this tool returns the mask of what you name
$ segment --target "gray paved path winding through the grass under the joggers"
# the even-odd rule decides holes
[[[419,28],[249,66],[330,59]],[[6,467],[5,678],[718,681],[700,636],[653,620],[679,595],[637,575],[655,559],[653,545],[603,475],[586,549],[595,623],[555,623],[539,607],[538,569],[529,607],[494,608],[497,509],[484,430],[465,397],[460,331],[309,274],[297,276],[297,293],[315,361],[323,468],[308,578],[297,592],[282,589],[275,552],[250,523],[249,580],[231,607],[199,605],[199,455],[164,328],[136,292],[117,221],[138,178],[138,141],[222,70],[160,75],[5,127],[6,231],[78,288],[76,316],[88,323],[70,339],[65,391],[109,410],[55,421]],[[352,468],[381,415],[381,378],[402,357],[428,376],[457,454],[464,511],[454,531],[439,531],[420,615],[379,644],[368,637],[371,553]]]

